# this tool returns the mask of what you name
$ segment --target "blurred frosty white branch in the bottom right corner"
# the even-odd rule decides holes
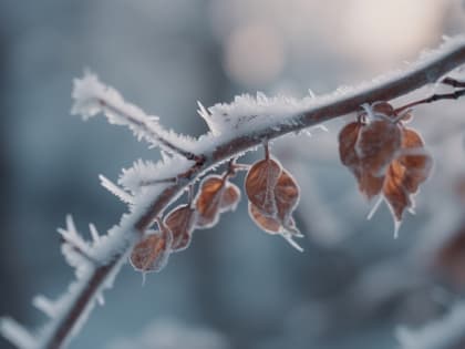
[[[465,301],[450,314],[416,330],[401,327],[396,337],[402,349],[455,349],[465,343]]]

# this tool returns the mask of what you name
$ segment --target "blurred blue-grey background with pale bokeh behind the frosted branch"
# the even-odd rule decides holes
[[[0,314],[43,324],[32,297],[54,298],[73,278],[56,227],[71,213],[83,232],[89,222],[110,228],[125,206],[97,175],[116,179],[136,158],[158,158],[103,117],[70,116],[85,68],[163,124],[199,135],[196,101],[323,94],[464,31],[458,0],[1,1]],[[259,230],[242,199],[144,286],[124,267],[70,348],[395,348],[397,326],[437,317],[465,287],[465,100],[415,115],[435,167],[397,239],[385,206],[365,219],[371,204],[338,158],[345,120],[333,121],[328,133],[272,144],[301,186],[303,254]]]

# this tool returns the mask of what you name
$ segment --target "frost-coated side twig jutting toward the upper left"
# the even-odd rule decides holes
[[[115,89],[106,86],[99,78],[85,72],[81,79],[74,79],[71,113],[82,115],[84,120],[104,113],[111,124],[128,126],[137,140],[145,138],[152,146],[162,146],[189,160],[197,156],[187,151],[194,140],[165,130],[158,123],[158,116],[144,113],[138,106],[127,103]]]

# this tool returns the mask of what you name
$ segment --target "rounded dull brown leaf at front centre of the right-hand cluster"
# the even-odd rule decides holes
[[[401,129],[385,120],[374,120],[363,125],[355,152],[364,171],[382,176],[401,147]]]

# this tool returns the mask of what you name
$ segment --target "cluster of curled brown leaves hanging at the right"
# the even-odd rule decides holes
[[[410,119],[410,113],[397,115],[391,104],[378,102],[365,106],[339,134],[342,164],[368,199],[382,195],[396,226],[404,211],[413,209],[413,195],[432,168],[421,135],[405,126]]]

